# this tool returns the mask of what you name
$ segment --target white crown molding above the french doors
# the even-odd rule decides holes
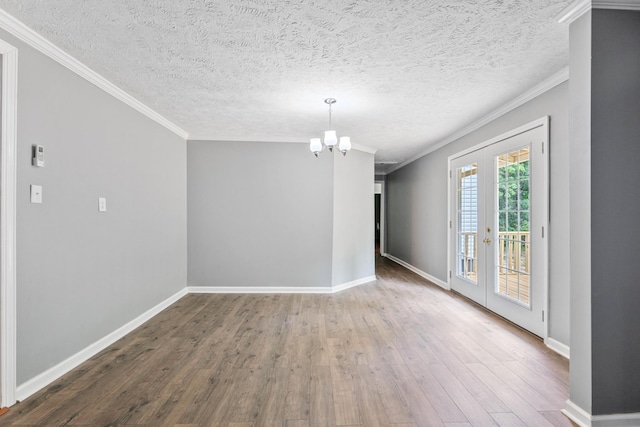
[[[411,157],[410,159],[405,160],[402,163],[398,163],[396,166],[394,166],[391,169],[389,169],[385,173],[385,175],[388,175],[391,172],[394,172],[394,171],[396,171],[396,170],[398,170],[400,168],[403,168],[406,165],[415,162],[419,158],[424,157],[427,154],[433,153],[434,151],[444,147],[445,145],[450,144],[450,143],[462,138],[463,136],[468,135],[471,132],[480,129],[482,126],[484,126],[484,125],[496,120],[497,118],[499,118],[501,116],[504,116],[508,112],[510,112],[512,110],[515,110],[516,108],[520,107],[521,105],[523,105],[523,104],[531,101],[532,99],[542,95],[543,93],[553,89],[554,87],[558,86],[559,84],[566,82],[567,80],[569,80],[569,67],[563,68],[562,70],[560,70],[557,73],[553,74],[551,77],[545,79],[543,82],[535,85],[534,87],[532,87],[531,89],[529,89],[528,91],[523,93],[522,95],[520,95],[517,98],[511,100],[510,102],[506,103],[505,105],[503,105],[502,107],[500,107],[497,110],[493,111],[492,113],[487,114],[486,116],[484,116],[480,120],[477,120],[477,121],[471,123],[470,125],[460,129],[458,132],[446,137],[445,139],[430,145],[429,148],[427,148],[426,150],[416,154],[415,156]]]

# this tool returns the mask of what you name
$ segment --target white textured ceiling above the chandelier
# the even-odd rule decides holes
[[[403,161],[568,65],[569,0],[0,0],[189,132]],[[190,138],[191,138],[190,137]]]

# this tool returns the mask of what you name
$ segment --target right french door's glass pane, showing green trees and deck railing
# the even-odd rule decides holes
[[[496,293],[529,306],[529,148],[496,158],[498,245]]]

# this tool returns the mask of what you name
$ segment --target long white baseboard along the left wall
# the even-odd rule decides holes
[[[27,397],[31,396],[35,392],[45,388],[47,385],[51,384],[53,381],[65,375],[67,372],[71,371],[81,363],[87,361],[91,357],[95,356],[114,342],[118,341],[120,338],[124,337],[140,325],[142,325],[147,320],[151,319],[158,313],[160,313],[165,308],[169,307],[171,304],[178,301],[180,298],[187,294],[187,289],[182,289],[176,294],[170,296],[166,300],[162,301],[160,304],[152,307],[146,312],[142,313],[140,316],[136,317],[129,323],[121,326],[105,337],[99,339],[68,359],[58,363],[56,366],[47,369],[41,374],[31,378],[30,380],[20,384],[16,389],[16,399],[18,401],[22,401]]]

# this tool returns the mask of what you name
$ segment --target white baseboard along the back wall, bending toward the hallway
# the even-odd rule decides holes
[[[377,280],[367,276],[336,286],[188,286],[190,294],[334,294]]]

